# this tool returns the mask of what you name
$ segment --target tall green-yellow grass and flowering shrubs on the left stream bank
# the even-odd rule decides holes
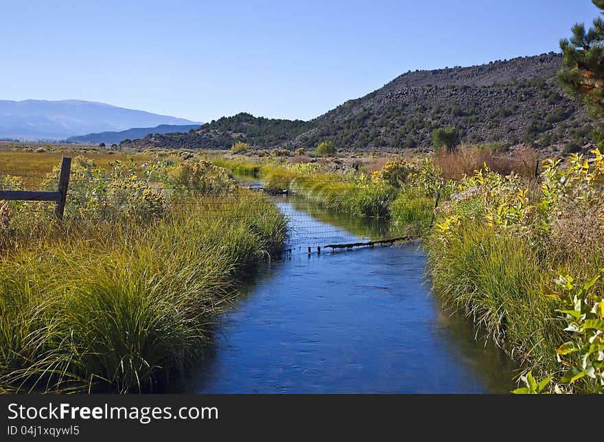
[[[200,159],[143,169],[152,181],[78,161],[62,224],[40,207],[0,209],[3,391],[177,383],[238,281],[281,249],[277,207],[220,169]]]

